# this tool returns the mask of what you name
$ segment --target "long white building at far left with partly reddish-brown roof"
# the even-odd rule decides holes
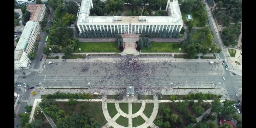
[[[28,5],[27,10],[32,14],[14,50],[14,69],[28,69],[30,67],[31,60],[27,55],[33,52],[34,43],[41,32],[39,22],[44,18],[46,6],[44,4],[31,4]]]

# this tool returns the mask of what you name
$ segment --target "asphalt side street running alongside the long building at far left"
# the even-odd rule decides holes
[[[50,15],[49,15],[49,19],[48,20],[53,20],[53,9],[50,9]],[[50,24],[49,23],[47,23],[47,27],[49,28],[50,27]],[[40,58],[41,58],[41,56],[43,55],[43,47],[45,46],[45,41],[46,41],[46,37],[48,36],[48,34],[46,33],[46,32],[43,32],[43,34],[44,34],[44,36],[43,36],[43,38],[42,38],[42,43],[40,44],[40,46],[39,46],[39,49],[38,49],[38,52],[37,52],[37,57],[36,57],[36,59],[34,60],[34,66],[33,66],[33,69],[39,69],[39,66],[40,66],[40,63],[41,63],[41,61],[39,61],[40,60]],[[31,73],[30,75],[28,75],[27,76],[27,78],[33,78],[34,76],[36,75],[36,73]],[[20,76],[21,78],[22,78],[22,76]],[[19,79],[19,78],[18,78]],[[17,81],[18,82],[18,81]],[[34,85],[34,82],[33,81],[28,81],[28,82],[26,82],[28,85],[30,85],[30,86],[33,86]],[[29,98],[29,96],[30,96],[30,94],[31,94],[31,90],[29,90],[29,91],[27,91],[27,92],[25,92],[25,90],[23,89],[23,91],[24,91],[24,93],[23,93],[23,97],[20,97],[21,99],[23,99],[23,100],[28,100],[28,98]],[[19,93],[20,94],[20,93]],[[20,113],[23,113],[23,112],[25,112],[26,110],[25,110],[25,106],[27,105],[27,102],[21,102],[21,104],[20,104],[20,106],[19,106],[19,108],[18,108],[18,112],[17,112],[17,114],[16,114],[16,118],[14,119],[14,127],[16,127],[17,126],[17,124],[19,124],[19,126],[21,126],[20,125],[20,116],[19,116],[19,114]]]

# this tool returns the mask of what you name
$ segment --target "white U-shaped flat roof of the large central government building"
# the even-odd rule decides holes
[[[171,1],[171,16],[89,16],[91,0],[82,0],[78,24],[84,23],[182,23],[180,6],[177,0]]]

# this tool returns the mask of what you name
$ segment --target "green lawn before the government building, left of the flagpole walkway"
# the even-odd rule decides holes
[[[121,52],[115,42],[79,42],[78,49],[74,52]]]

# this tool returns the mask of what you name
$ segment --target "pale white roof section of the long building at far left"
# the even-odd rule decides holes
[[[34,31],[36,30],[36,25],[37,23],[34,21],[28,21],[26,23],[26,26],[23,29],[23,32],[20,36],[20,40],[18,41],[18,44],[15,48],[15,50],[25,50],[28,44],[28,40],[31,36],[31,34],[34,33]]]

